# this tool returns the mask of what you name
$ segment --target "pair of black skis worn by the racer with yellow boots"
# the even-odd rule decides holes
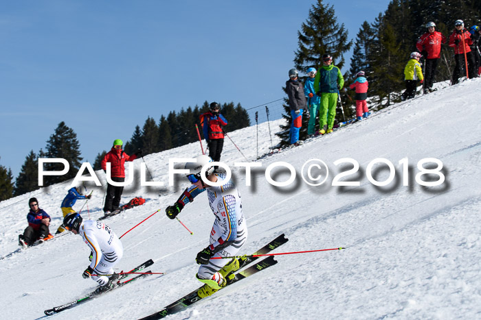
[[[258,249],[258,251],[254,252],[253,255],[258,255],[258,254],[267,254],[269,251],[272,251],[273,249],[276,249],[280,245],[283,245],[284,243],[287,243],[289,241],[288,238],[284,236],[284,234],[281,234],[277,238],[275,238],[273,241],[267,243],[264,247]],[[245,267],[247,264],[254,262],[257,260],[259,257],[248,257],[243,261],[242,264],[240,264],[239,269]],[[240,260],[242,261],[242,260]],[[231,282],[230,284],[233,284],[235,282],[238,282],[239,280],[242,280],[244,278],[249,277],[250,275],[253,275],[254,273],[264,270],[267,267],[271,267],[272,265],[276,264],[277,261],[274,259],[273,256],[269,256],[268,258],[265,258],[263,260],[260,260],[256,264],[251,265],[250,267],[247,267],[247,269],[243,271],[239,271],[236,273],[236,278],[234,278],[234,281]],[[230,285],[228,284],[228,285]],[[202,288],[202,287],[200,287]],[[166,306],[164,309],[160,310],[159,312],[155,312],[152,315],[149,315],[147,317],[142,318],[142,320],[146,319],[162,319],[164,317],[167,317],[168,315],[172,315],[176,312],[180,312],[181,310],[185,310],[188,308],[190,305],[194,304],[195,302],[203,299],[197,295],[197,291],[199,291],[200,288],[197,288],[196,290],[192,291],[188,295],[185,295],[175,301],[172,304],[169,304]]]

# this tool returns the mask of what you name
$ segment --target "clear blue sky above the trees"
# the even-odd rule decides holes
[[[389,0],[324,2],[353,39]],[[93,162],[148,116],[282,98],[314,1],[0,3],[0,164],[16,178],[60,121]]]

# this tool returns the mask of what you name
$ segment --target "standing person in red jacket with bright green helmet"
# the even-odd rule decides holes
[[[133,161],[142,154],[142,151],[137,151],[132,156],[128,156],[127,153],[122,150],[124,143],[120,139],[113,141],[112,149],[104,156],[102,160],[102,169],[107,172],[107,162],[110,162],[111,179],[113,182],[125,181],[125,167],[126,161]],[[120,197],[124,191],[123,186],[113,186],[107,184],[107,197],[105,198],[104,213],[106,215],[118,213]]]

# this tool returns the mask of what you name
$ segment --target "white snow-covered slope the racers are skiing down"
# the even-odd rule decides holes
[[[342,251],[278,256],[278,264],[201,301],[170,319],[476,319],[481,315],[481,100],[480,79],[438,90],[392,106],[360,123],[262,160],[246,186],[245,172],[234,169],[249,227],[245,254],[278,234],[289,242],[277,252],[346,247]],[[280,120],[282,121],[282,120]],[[281,123],[271,122],[271,128]],[[274,129],[273,132],[276,130]],[[256,126],[230,134],[249,160],[256,158]],[[278,142],[275,136],[273,143]],[[259,149],[271,145],[267,123],[259,125]],[[144,157],[155,181],[168,183],[168,158],[190,158],[199,143]],[[309,186],[299,175],[310,159],[330,170],[322,186]],[[333,177],[352,166],[334,162],[352,158],[357,173],[342,180],[360,186],[332,186]],[[366,177],[375,158],[390,160],[395,179],[384,187]],[[409,185],[403,186],[399,160],[407,158]],[[443,162],[446,180],[440,186],[416,183],[418,161]],[[233,167],[245,158],[225,140],[223,161]],[[288,162],[298,173],[291,186],[274,187],[265,178],[273,162]],[[139,173],[142,160],[135,160]],[[378,181],[388,178],[385,166],[372,170]],[[99,175],[104,181],[103,175]],[[278,181],[287,171],[275,171]],[[435,175],[429,175],[437,180]],[[423,177],[424,179],[426,176]],[[120,236],[158,209],[172,204],[188,186],[179,178],[173,187],[127,188],[123,200],[149,198],[137,208],[105,222]],[[36,195],[41,208],[61,221],[60,202],[67,185],[23,195],[0,204],[0,255],[17,248],[17,234],[26,227],[27,199]],[[102,216],[103,189],[93,189],[89,212]],[[159,196],[160,194],[160,196]],[[74,208],[80,210],[82,201]],[[148,258],[150,269],[165,272],[66,310],[53,319],[138,319],[197,288],[194,257],[208,244],[214,217],[205,195],[179,215],[191,236],[161,210],[123,238],[127,270]],[[0,260],[2,319],[35,319],[43,310],[89,293],[96,283],[82,278],[89,249],[80,236],[67,234]]]

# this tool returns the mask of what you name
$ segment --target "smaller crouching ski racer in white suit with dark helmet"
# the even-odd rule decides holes
[[[113,267],[124,255],[124,247],[115,232],[100,221],[82,221],[82,217],[76,212],[68,214],[63,219],[63,225],[65,230],[80,234],[92,251],[91,263],[82,273],[82,277],[92,278],[100,284],[97,293],[113,288],[119,279],[119,274],[113,272]],[[107,275],[110,275],[110,278]]]

